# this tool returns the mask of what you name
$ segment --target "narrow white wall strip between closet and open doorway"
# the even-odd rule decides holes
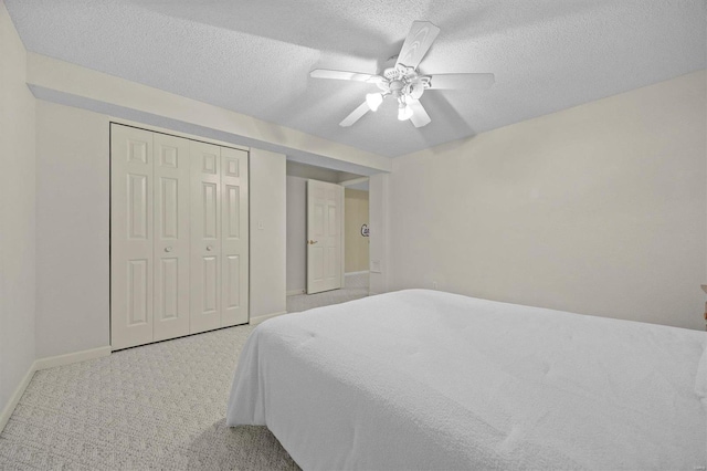
[[[251,149],[251,318],[284,313],[285,156]],[[262,228],[262,229],[261,229]]]

